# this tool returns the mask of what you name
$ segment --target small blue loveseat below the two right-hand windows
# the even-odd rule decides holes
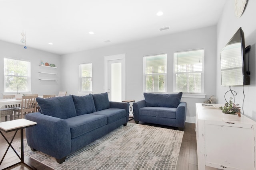
[[[183,130],[186,121],[186,102],[178,94],[144,93],[145,100],[133,103],[134,121],[178,127]]]

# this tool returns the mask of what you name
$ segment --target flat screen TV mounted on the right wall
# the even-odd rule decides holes
[[[240,27],[220,53],[221,85],[242,86],[250,84],[246,74],[244,32]]]

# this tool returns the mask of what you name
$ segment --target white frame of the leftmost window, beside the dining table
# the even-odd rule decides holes
[[[14,60],[14,61],[22,61],[22,62],[27,62],[27,76],[19,76],[19,75],[13,75],[10,74],[9,72],[6,74],[5,72],[5,67],[6,67],[6,60]],[[14,72],[15,73],[15,72]],[[7,87],[6,87],[6,76],[7,77],[26,77],[27,79],[27,86],[26,86],[26,91],[24,90],[19,90],[19,88],[17,87],[17,89],[15,89],[15,91],[7,91]],[[4,57],[4,94],[20,94],[20,93],[27,93],[27,92],[31,92],[31,62],[30,61],[26,61],[26,60],[22,60],[22,59],[13,59],[13,58],[9,58],[9,57]]]

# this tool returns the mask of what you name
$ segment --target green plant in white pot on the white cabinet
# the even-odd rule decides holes
[[[238,104],[233,104],[232,98],[229,99],[229,103],[225,103],[225,106],[219,108],[222,110],[222,117],[224,120],[236,121],[238,119],[240,107]]]

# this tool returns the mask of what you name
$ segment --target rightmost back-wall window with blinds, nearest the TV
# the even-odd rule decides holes
[[[204,49],[174,53],[174,92],[204,93]]]

